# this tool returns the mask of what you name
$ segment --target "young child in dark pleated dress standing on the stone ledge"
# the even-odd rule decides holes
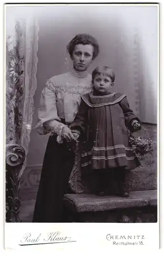
[[[93,90],[81,96],[81,104],[69,126],[76,139],[83,141],[83,168],[97,174],[96,194],[108,194],[111,173],[116,174],[119,193],[128,197],[129,170],[140,165],[128,143],[128,132],[141,129],[141,122],[129,108],[127,97],[111,93],[115,73],[109,67],[98,67],[92,73]],[[84,143],[84,141],[86,143]]]

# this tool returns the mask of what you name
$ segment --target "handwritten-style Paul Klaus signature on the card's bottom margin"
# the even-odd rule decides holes
[[[61,232],[48,232],[47,234],[38,234],[37,236],[32,236],[32,233],[25,233],[20,240],[19,245],[39,245],[39,244],[55,244],[55,243],[70,243],[76,242],[71,240],[71,237],[61,236]]]

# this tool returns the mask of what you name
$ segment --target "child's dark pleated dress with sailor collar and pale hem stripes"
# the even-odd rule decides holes
[[[81,167],[133,169],[140,161],[128,143],[128,131],[139,118],[129,108],[127,97],[121,93],[81,96],[79,111],[70,125],[83,141]]]

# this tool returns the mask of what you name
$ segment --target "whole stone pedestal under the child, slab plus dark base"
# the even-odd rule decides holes
[[[117,196],[64,196],[66,222],[156,222],[157,190],[131,191]]]

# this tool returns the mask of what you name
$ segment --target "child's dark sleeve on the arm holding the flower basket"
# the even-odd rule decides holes
[[[132,125],[134,124],[134,122],[138,121],[141,124],[141,121],[138,117],[134,115],[133,111],[130,109],[127,97],[124,97],[120,101],[120,106],[125,116],[125,124],[128,127],[128,129],[132,131]]]

